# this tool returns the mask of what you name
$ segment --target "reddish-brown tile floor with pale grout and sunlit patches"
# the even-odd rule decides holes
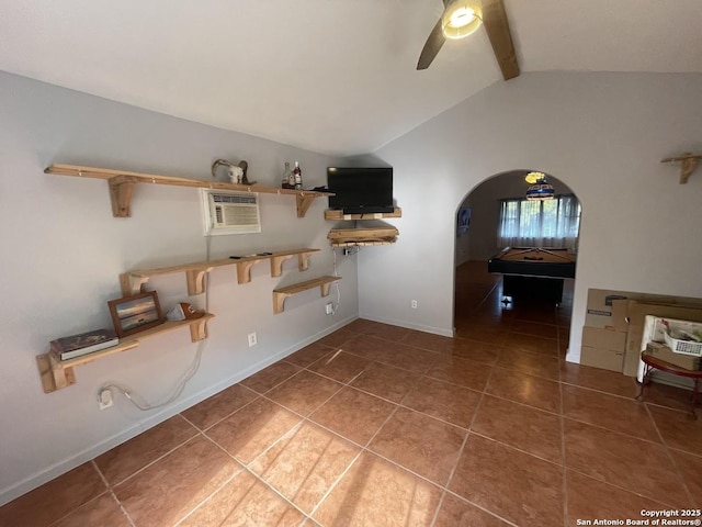
[[[359,319],[0,507],[0,525],[575,526],[702,507],[686,392],[567,363],[570,300],[456,277],[457,338]]]

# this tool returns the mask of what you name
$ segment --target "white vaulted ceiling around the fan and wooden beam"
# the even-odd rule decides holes
[[[505,8],[522,72],[702,72],[701,0]],[[0,70],[353,155],[503,82],[483,29],[416,70],[442,9],[441,0],[1,0]]]

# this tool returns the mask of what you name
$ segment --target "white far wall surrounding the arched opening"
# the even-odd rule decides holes
[[[375,155],[395,169],[400,236],[360,254],[360,315],[450,334],[456,208],[524,167],[582,205],[569,360],[589,288],[702,296],[702,172],[680,186],[679,167],[660,162],[702,150],[700,93],[702,75],[524,74],[386,145]]]

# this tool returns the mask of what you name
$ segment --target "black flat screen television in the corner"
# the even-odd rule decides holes
[[[328,167],[329,208],[344,214],[393,212],[393,167]]]

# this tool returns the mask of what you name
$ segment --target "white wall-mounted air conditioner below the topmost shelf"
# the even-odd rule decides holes
[[[259,194],[202,189],[205,236],[261,232]]]

